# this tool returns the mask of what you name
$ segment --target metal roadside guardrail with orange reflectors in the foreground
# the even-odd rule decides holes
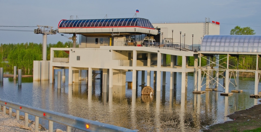
[[[28,105],[14,103],[7,100],[0,99],[0,105],[3,105],[3,112],[5,108],[9,107],[9,116],[12,116],[12,108],[16,110],[16,119],[19,120],[19,111],[25,112],[25,127],[28,127],[28,114],[35,116],[35,131],[38,131],[37,124],[39,124],[39,117],[49,120],[49,131],[53,131],[53,122],[67,126],[67,132],[71,132],[71,128],[76,128],[82,131],[109,131],[109,132],[136,132],[131,129],[118,127],[115,125],[105,124],[97,121],[91,121],[63,113],[44,110]]]

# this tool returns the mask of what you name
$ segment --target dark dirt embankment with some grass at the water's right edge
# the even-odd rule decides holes
[[[261,102],[261,101],[260,101]],[[230,132],[252,130],[261,127],[261,104],[255,105],[247,110],[236,111],[228,115],[233,121],[227,121],[221,124],[215,124],[209,127],[205,132]]]

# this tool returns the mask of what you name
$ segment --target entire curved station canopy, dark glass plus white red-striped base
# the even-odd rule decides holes
[[[61,20],[59,33],[76,33],[85,36],[111,36],[115,34],[158,34],[151,22],[143,18]]]

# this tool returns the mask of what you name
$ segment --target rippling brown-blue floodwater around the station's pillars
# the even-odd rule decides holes
[[[193,94],[193,74],[188,75],[188,88],[184,94],[181,94],[180,83],[174,89],[169,88],[169,78],[170,73],[167,72],[167,84],[161,87],[160,92],[156,91],[152,81],[154,95],[151,97],[141,95],[139,86],[133,90],[127,86],[114,86],[105,94],[100,80],[94,80],[92,88],[88,89],[86,80],[68,85],[66,76],[61,89],[57,89],[57,76],[53,84],[33,81],[32,77],[22,78],[21,88],[13,78],[4,78],[0,85],[0,98],[139,131],[199,131],[206,126],[228,121],[226,115],[259,104],[257,99],[249,98],[254,93],[254,79],[241,79],[239,89],[243,92],[225,97],[220,96],[222,92],[214,91]],[[140,79],[141,71],[138,85],[141,85]],[[126,73],[126,81],[132,81],[132,72]],[[181,82],[180,73],[177,82]],[[229,91],[232,89],[235,87],[230,84]],[[218,91],[224,91],[223,87],[219,86]],[[34,116],[29,116],[29,119],[34,120]],[[47,120],[39,119],[39,123],[48,128]],[[54,129],[57,128],[66,130],[65,126],[54,123]]]

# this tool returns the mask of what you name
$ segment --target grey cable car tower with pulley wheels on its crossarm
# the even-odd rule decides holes
[[[47,57],[47,35],[56,34],[56,30],[53,27],[37,25],[38,28],[34,30],[35,34],[43,34],[43,48],[42,48],[42,59],[46,61]]]

